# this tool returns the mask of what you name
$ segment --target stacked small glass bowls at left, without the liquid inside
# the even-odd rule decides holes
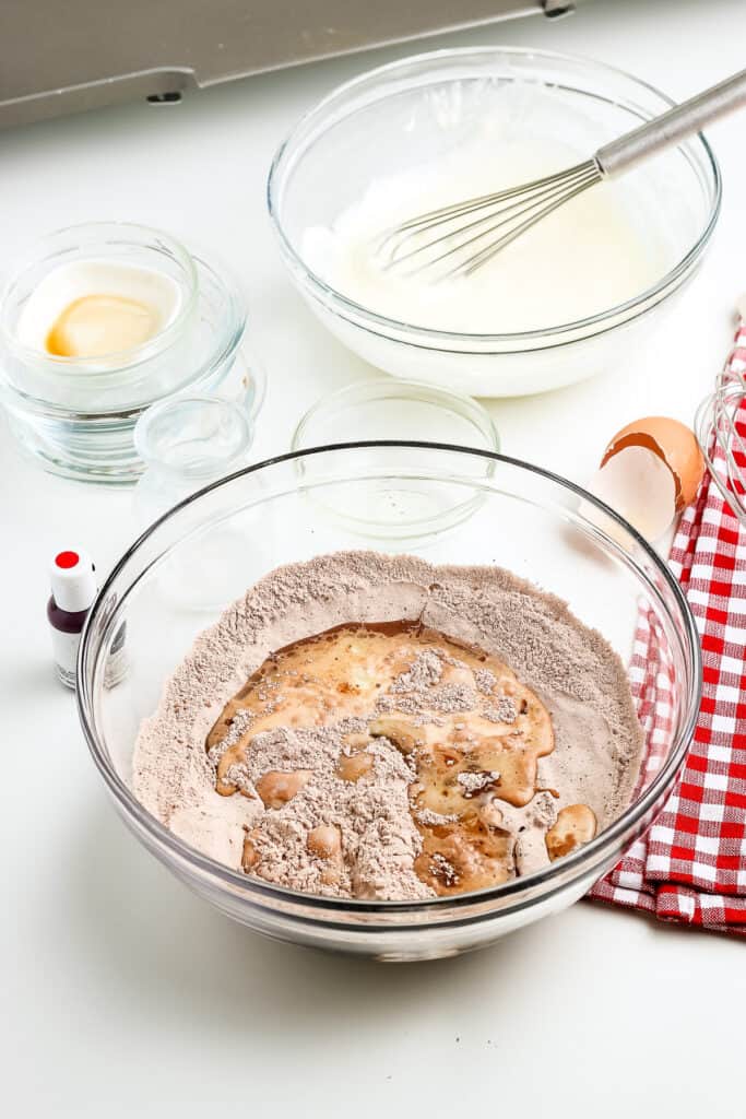
[[[30,294],[60,264],[116,262],[167,275],[178,313],[140,349],[67,358],[30,349],[18,323]],[[16,269],[0,302],[0,403],[21,446],[67,478],[132,485],[143,470],[138,419],[174,393],[240,401],[255,419],[264,375],[247,341],[247,311],[233,281],[158,229],[92,223],[50,234]]]

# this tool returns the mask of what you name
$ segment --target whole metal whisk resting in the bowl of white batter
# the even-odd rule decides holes
[[[374,250],[385,271],[446,280],[470,275],[527,229],[602,179],[630,168],[746,105],[746,70],[674,105],[595,156],[544,179],[468,198],[418,214],[377,238]]]

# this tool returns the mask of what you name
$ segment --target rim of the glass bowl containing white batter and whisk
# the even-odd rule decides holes
[[[457,330],[437,330],[431,327],[416,326],[409,322],[403,322],[398,319],[391,319],[388,316],[380,314],[377,311],[372,311],[370,308],[365,307],[362,303],[358,303],[349,297],[344,295],[342,292],[337,291],[330,283],[323,280],[320,275],[313,272],[309,265],[305,263],[300,252],[293,246],[290,237],[285,234],[283,228],[280,209],[282,199],[282,188],[283,184],[281,181],[282,175],[286,170],[292,170],[294,162],[299,154],[304,153],[312,147],[312,143],[323,134],[325,128],[320,124],[318,130],[312,134],[309,142],[300,149],[300,152],[293,152],[293,143],[298,140],[304,130],[309,126],[311,121],[320,115],[323,117],[324,113],[339,100],[343,100],[348,94],[355,93],[363,88],[366,85],[375,85],[375,83],[380,78],[386,78],[388,76],[395,75],[398,70],[408,69],[412,67],[419,66],[424,63],[432,62],[434,65],[437,63],[445,63],[448,60],[460,60],[464,62],[471,59],[476,59],[478,57],[490,58],[499,56],[513,56],[516,58],[522,58],[526,60],[544,60],[548,63],[566,63],[572,66],[583,66],[591,70],[597,70],[599,73],[610,75],[612,77],[624,78],[631,83],[634,83],[639,88],[644,90],[648,93],[653,94],[655,97],[660,98],[662,102],[661,112],[665,109],[671,107],[677,104],[677,102],[670,97],[668,94],[663,93],[657,86],[652,85],[650,82],[645,82],[643,78],[631,74],[629,70],[623,69],[618,66],[611,66],[606,63],[601,63],[597,59],[586,57],[584,55],[576,55],[559,50],[535,50],[530,47],[453,47],[453,48],[442,48],[438,50],[423,51],[417,55],[408,55],[405,58],[398,58],[395,62],[386,63],[383,66],[376,66],[372,69],[366,70],[362,74],[357,75],[357,77],[350,78],[348,82],[343,82],[340,85],[331,90],[325,96],[312,105],[292,126],[290,132],[285,135],[284,140],[281,142],[280,147],[275,151],[272,164],[270,167],[270,172],[267,176],[266,184],[266,204],[267,211],[270,215],[270,222],[272,224],[273,231],[277,238],[280,250],[289,265],[299,270],[303,273],[303,281],[310,288],[312,294],[320,299],[321,302],[331,303],[332,309],[339,311],[341,318],[347,318],[347,321],[353,321],[356,326],[367,329],[372,333],[377,333],[383,338],[390,338],[390,331],[406,331],[413,337],[407,338],[407,345],[417,346],[421,345],[425,349],[440,349],[444,352],[450,352],[452,350],[456,352],[469,352],[464,350],[461,344],[472,344],[474,346],[484,346],[487,344],[493,342],[494,345],[508,345],[516,344],[516,352],[526,352],[526,344],[536,340],[541,342],[544,340],[559,338],[558,342],[545,341],[545,345],[528,347],[529,351],[535,349],[551,349],[556,346],[566,345],[572,341],[578,341],[584,338],[594,337],[596,333],[603,333],[606,330],[613,329],[615,326],[622,322],[632,322],[636,318],[646,313],[651,310],[651,300],[654,301],[652,305],[659,303],[667,295],[676,291],[679,285],[679,281],[687,274],[687,272],[693,266],[697,260],[701,256],[707,244],[709,243],[711,235],[717,225],[718,216],[720,214],[720,205],[723,198],[723,178],[720,173],[720,167],[717,158],[710,148],[706,137],[698,132],[687,140],[683,140],[677,145],[680,151],[687,151],[687,145],[697,145],[703,150],[705,166],[706,169],[711,173],[711,180],[708,182],[709,188],[709,213],[703,228],[700,231],[693,245],[684,253],[684,255],[669,269],[669,271],[661,276],[654,284],[646,288],[644,291],[640,292],[638,295],[625,300],[622,303],[617,303],[612,308],[607,308],[605,311],[598,311],[595,314],[587,316],[582,319],[576,319],[572,322],[558,323],[554,326],[539,327],[532,330],[514,331],[514,332],[501,332],[501,333],[484,333],[484,332],[465,332]],[[556,85],[556,83],[545,83],[546,87],[550,85]],[[588,91],[579,91],[584,96],[594,96]],[[601,97],[601,100],[608,100],[602,94],[595,95]],[[381,101],[385,97],[380,98]],[[623,102],[616,102],[621,107],[630,109],[634,111],[639,117],[640,123],[650,120],[651,116],[645,115],[640,112],[639,106],[627,105]],[[356,110],[361,106],[356,106]],[[351,114],[350,114],[351,115]],[[634,126],[634,125],[631,125]],[[676,149],[674,149],[676,150]],[[291,153],[292,152],[292,153]],[[689,157],[688,157],[689,158]],[[290,167],[285,168],[285,162],[290,163]],[[689,159],[689,162],[691,160]],[[635,310],[636,309],[636,310]],[[344,314],[347,312],[347,316]],[[627,313],[634,312],[634,313]],[[351,318],[348,318],[350,316]],[[377,330],[374,328],[378,328]],[[597,330],[595,328],[598,328]],[[565,338],[563,336],[569,335],[570,338]],[[433,346],[426,344],[426,339],[432,341],[440,341],[443,345]],[[450,344],[450,345],[447,345]],[[523,344],[522,346],[520,344]],[[475,350],[474,352],[480,352]],[[512,352],[511,350],[503,350],[502,352]]]

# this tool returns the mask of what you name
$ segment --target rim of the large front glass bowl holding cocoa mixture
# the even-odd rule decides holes
[[[229,486],[238,478],[256,473],[267,467],[277,466],[284,462],[292,462],[303,457],[349,452],[355,451],[358,448],[404,448],[425,451],[434,450],[438,452],[445,451],[461,455],[476,455],[479,458],[489,459],[493,462],[518,468],[520,471],[527,471],[529,474],[538,476],[545,481],[559,486],[560,489],[565,489],[580,500],[589,502],[589,505],[595,507],[597,511],[610,518],[613,524],[622,528],[627,536],[631,537],[633,543],[642,548],[643,553],[651,561],[652,568],[662,577],[679,608],[681,619],[684,623],[687,638],[686,643],[687,651],[689,653],[689,668],[691,670],[691,688],[689,695],[687,696],[686,716],[683,718],[682,726],[679,730],[677,741],[673,743],[669,755],[652,778],[650,784],[642,791],[636,800],[632,801],[625,808],[616,820],[610,824],[608,827],[604,828],[604,830],[589,843],[576,848],[576,850],[572,852],[569,855],[564,856],[561,859],[557,859],[557,862],[551,863],[544,869],[533,872],[525,877],[513,878],[499,886],[489,886],[484,890],[472,891],[463,894],[428,897],[416,902],[325,897],[319,894],[303,893],[301,891],[291,890],[286,886],[278,886],[273,883],[263,882],[255,876],[242,874],[238,871],[232,871],[225,864],[204,855],[201,852],[190,847],[183,840],[178,838],[172,831],[169,830],[169,828],[161,824],[144,808],[144,806],[128,787],[123,778],[121,778],[114,770],[113,765],[111,765],[105,751],[100,747],[94,716],[95,697],[92,697],[88,694],[86,669],[92,657],[93,669],[94,671],[97,669],[97,652],[100,651],[101,643],[106,638],[111,637],[113,631],[121,623],[120,611],[123,611],[126,603],[126,595],[122,596],[114,608],[112,608],[111,603],[107,601],[107,596],[111,584],[114,582],[120,572],[126,566],[140,546],[144,544],[153,534],[158,533],[160,527],[168,520],[178,516],[181,510],[199,501],[199,499],[205,495],[221,487]],[[349,477],[349,471],[347,477]],[[473,485],[473,479],[470,479],[470,485]],[[578,516],[577,513],[576,516]],[[620,561],[624,562],[627,567],[632,567],[636,575],[641,579],[642,583],[652,593],[657,594],[650,577],[644,573],[634,557],[630,555],[626,549],[623,548],[622,545],[603,528],[597,525],[592,525],[592,527],[593,533],[603,539],[606,547],[608,547]],[[100,615],[103,617],[100,618]],[[101,629],[101,633],[98,634],[100,648],[98,650],[92,650],[92,642],[96,640],[94,631],[98,629]],[[103,679],[103,670],[101,675]],[[301,452],[291,451],[284,454],[275,455],[274,458],[265,459],[262,462],[253,463],[249,467],[237,470],[233,474],[228,474],[226,478],[196,491],[169,509],[168,513],[159,517],[158,520],[153,521],[153,524],[128,548],[124,555],[113,566],[98,591],[98,594],[96,595],[96,600],[86,618],[81,639],[77,658],[76,685],[76,705],[81,726],[94,764],[101,773],[111,794],[114,797],[120,808],[126,815],[132,817],[140,828],[144,829],[151,840],[167,846],[170,854],[179,859],[180,863],[187,863],[190,867],[201,874],[213,875],[219,878],[221,885],[232,893],[235,893],[237,890],[242,893],[251,892],[256,895],[258,900],[268,899],[284,905],[294,903],[305,908],[305,910],[319,911],[321,915],[323,912],[336,911],[342,915],[344,913],[349,913],[351,918],[355,916],[356,920],[359,920],[361,914],[383,915],[410,913],[415,915],[427,913],[435,914],[440,912],[446,920],[447,914],[454,913],[455,920],[448,923],[457,924],[459,913],[462,913],[461,921],[464,923],[478,921],[484,915],[482,906],[491,902],[497,904],[507,900],[508,904],[507,906],[502,906],[502,909],[507,912],[519,912],[520,910],[530,906],[539,899],[541,901],[548,901],[555,893],[566,886],[568,881],[580,880],[583,878],[584,873],[593,874],[597,871],[598,865],[604,863],[605,858],[613,855],[613,848],[616,841],[621,839],[629,828],[634,828],[644,820],[648,814],[653,809],[659,798],[661,798],[668,789],[670,789],[681,768],[681,764],[683,763],[686,752],[691,743],[701,700],[702,658],[699,634],[691,608],[683,595],[681,585],[669,568],[665,561],[632,525],[620,516],[620,514],[617,514],[610,506],[605,505],[599,498],[583,489],[583,487],[576,485],[567,478],[563,478],[561,474],[557,474],[551,470],[545,469],[544,467],[538,467],[533,463],[526,462],[522,459],[500,454],[494,451],[474,450],[472,448],[459,446],[451,443],[427,443],[417,440],[368,440],[351,443],[330,443],[325,446],[309,448],[308,450]],[[544,892],[541,892],[541,887],[546,887]],[[527,894],[527,892],[528,896],[523,897],[522,895]],[[468,912],[463,912],[468,911],[470,906],[475,904],[480,906],[478,913],[469,914]],[[296,919],[300,916],[301,920],[310,922],[318,920],[308,915],[295,914],[295,916]],[[339,927],[339,922],[334,922],[334,927]],[[388,925],[384,927],[389,928]],[[369,931],[375,930],[375,924],[367,925]],[[404,929],[410,927],[404,927]]]

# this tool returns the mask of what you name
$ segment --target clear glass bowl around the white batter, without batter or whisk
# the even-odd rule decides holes
[[[468,147],[485,121],[508,122],[508,150],[511,138],[539,149],[561,141],[580,161],[671,104],[623,70],[542,50],[436,50],[369,70],[311,109],[275,156],[267,204],[289,274],[333,335],[399,377],[471,396],[514,396],[608,370],[664,318],[710,241],[720,173],[701,134],[614,185],[635,239],[654,246],[659,274],[625,302],[575,321],[557,321],[550,299],[537,301],[531,330],[459,333],[397,320],[337,290],[324,263],[313,263],[306,234],[331,226],[380,177]],[[583,197],[572,205],[582,222]],[[627,262],[615,255],[608,267],[625,270]],[[561,282],[573,282],[569,262]]]

